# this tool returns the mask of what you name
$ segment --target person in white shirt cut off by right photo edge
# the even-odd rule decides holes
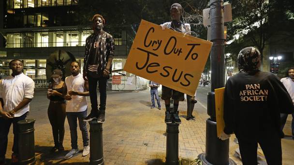
[[[282,78],[281,82],[284,84],[285,88],[287,89],[294,103],[294,68],[288,69],[288,76],[289,77]],[[283,131],[288,114],[281,113],[280,117],[281,117],[281,131]],[[294,112],[292,113],[291,128],[292,128],[292,138],[294,139]]]

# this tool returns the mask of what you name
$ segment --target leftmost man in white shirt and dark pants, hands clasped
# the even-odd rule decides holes
[[[23,63],[14,59],[9,68],[12,74],[0,83],[0,164],[5,164],[8,133],[13,124],[14,142],[12,163],[18,162],[18,126],[17,122],[26,119],[29,102],[34,96],[34,81],[23,74]]]

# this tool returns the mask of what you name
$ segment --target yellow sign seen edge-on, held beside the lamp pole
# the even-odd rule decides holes
[[[223,121],[224,87],[215,89],[214,97],[215,97],[215,112],[216,112],[216,118],[217,118],[217,133],[218,133],[218,137],[220,137],[221,132],[224,129],[224,121]]]

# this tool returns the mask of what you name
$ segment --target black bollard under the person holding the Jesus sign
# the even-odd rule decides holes
[[[178,165],[178,126],[166,124],[166,161],[165,165]]]

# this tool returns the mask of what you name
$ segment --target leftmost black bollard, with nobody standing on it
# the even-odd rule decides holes
[[[34,119],[25,119],[17,122],[19,165],[34,165],[35,159],[35,138],[34,138]]]

